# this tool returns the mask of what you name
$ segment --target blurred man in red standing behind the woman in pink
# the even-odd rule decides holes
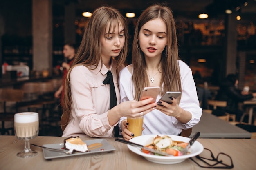
[[[64,93],[64,84],[65,84],[65,79],[66,79],[66,76],[67,76],[67,72],[69,71],[70,69],[70,65],[72,64],[73,62],[73,59],[76,55],[76,47],[75,47],[75,44],[72,44],[72,43],[66,43],[64,46],[63,46],[63,55],[65,57],[65,59],[67,59],[67,62],[63,62],[62,63],[62,67],[64,69],[63,71],[63,84],[58,88],[58,90],[54,93],[54,97],[59,99],[61,97],[61,102],[62,102],[62,99],[63,99],[63,93]]]

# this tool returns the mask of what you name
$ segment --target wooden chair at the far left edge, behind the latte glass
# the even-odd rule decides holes
[[[0,102],[3,103],[3,112],[0,113],[0,121],[2,121],[1,135],[14,135],[14,128],[5,128],[5,122],[14,121],[14,114],[18,113],[18,102],[22,101],[23,97],[24,93],[22,90],[0,89]],[[11,133],[9,132],[10,130]]]

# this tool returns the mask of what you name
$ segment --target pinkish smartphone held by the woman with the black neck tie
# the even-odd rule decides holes
[[[160,87],[159,86],[151,86],[151,87],[144,87],[139,100],[144,100],[152,97],[154,103],[157,100],[157,95],[160,93]]]

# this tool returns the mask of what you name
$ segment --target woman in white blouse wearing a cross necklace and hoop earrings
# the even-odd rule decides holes
[[[157,26],[156,26],[157,25]],[[180,135],[200,121],[202,109],[193,80],[192,71],[178,58],[175,21],[171,9],[164,4],[148,7],[139,17],[132,46],[132,65],[119,75],[121,102],[137,100],[146,86],[160,86],[162,91],[181,91],[168,104],[159,101],[156,109],[144,115],[142,135]],[[121,103],[122,104],[122,103]],[[125,140],[134,135],[127,129],[126,117],[119,128]]]

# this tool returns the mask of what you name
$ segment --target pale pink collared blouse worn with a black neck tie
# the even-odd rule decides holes
[[[120,103],[120,93],[117,87],[116,61],[112,60],[110,68],[101,62],[94,70],[84,65],[75,66],[70,72],[72,95],[72,115],[70,122],[63,131],[63,137],[113,137],[114,124],[108,122],[110,107],[110,85],[103,84],[108,70],[111,70],[117,104]]]

